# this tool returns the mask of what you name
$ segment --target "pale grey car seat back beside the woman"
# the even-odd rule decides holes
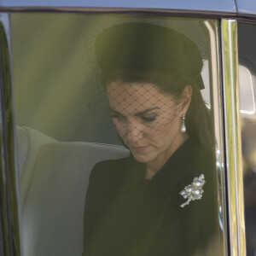
[[[16,133],[25,255],[81,255],[90,170],[101,160],[129,156],[129,150],[58,142],[28,127]]]

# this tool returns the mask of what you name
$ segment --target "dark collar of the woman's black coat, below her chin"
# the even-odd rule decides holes
[[[122,162],[122,166],[119,166],[119,170],[122,170],[121,190],[129,189],[137,183],[143,182],[150,183],[161,194],[166,194],[176,188],[177,183],[181,181],[184,187],[187,183],[191,183],[193,178],[198,175],[194,169],[196,169],[195,165],[200,157],[200,152],[201,146],[194,139],[189,138],[177,148],[177,151],[167,160],[165,166],[150,181],[144,178],[146,166],[137,162],[131,156],[125,163],[125,166],[124,162]]]

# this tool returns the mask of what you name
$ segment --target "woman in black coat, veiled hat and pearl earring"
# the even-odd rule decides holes
[[[169,28],[126,23],[102,32],[96,58],[131,157],[91,172],[84,255],[207,255],[217,218],[199,50]]]

